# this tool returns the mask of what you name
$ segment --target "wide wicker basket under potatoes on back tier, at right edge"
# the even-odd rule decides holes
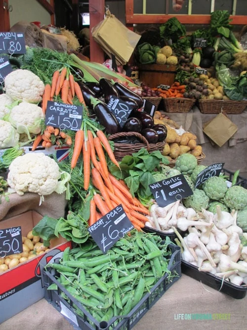
[[[199,109],[202,113],[220,113],[224,111],[227,114],[242,113],[247,107],[247,101],[232,100],[199,100]]]

